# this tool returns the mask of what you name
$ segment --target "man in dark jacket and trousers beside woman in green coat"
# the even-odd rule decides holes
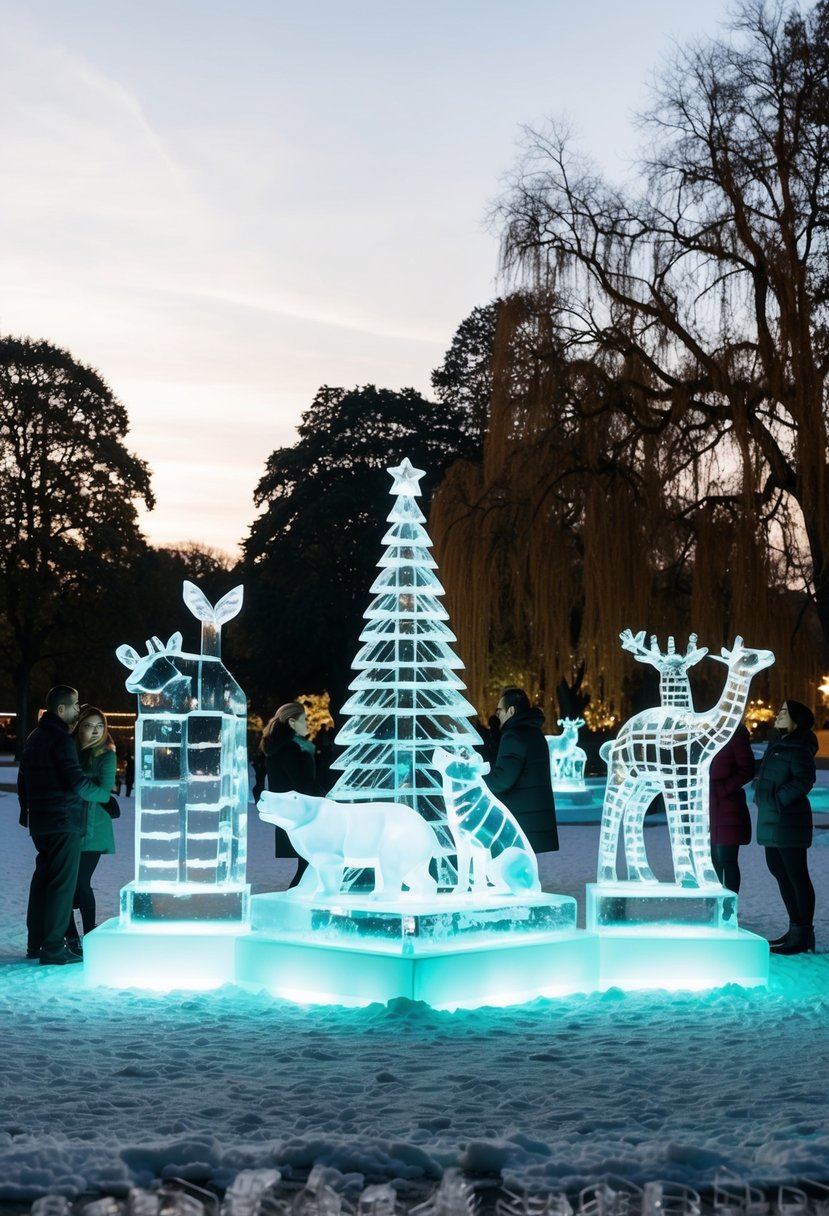
[[[17,794],[21,824],[28,827],[38,856],[26,913],[28,958],[46,966],[79,963],[66,946],[72,896],[78,880],[80,840],[86,827],[86,800],[97,788],[84,777],[69,728],[80,713],[78,691],[51,688],[46,711],[23,748]]]

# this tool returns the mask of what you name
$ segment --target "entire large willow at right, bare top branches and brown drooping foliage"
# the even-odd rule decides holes
[[[432,523],[476,672],[513,630],[547,699],[582,663],[615,699],[616,626],[665,623],[773,646],[771,694],[814,702],[828,81],[829,0],[805,15],[744,0],[727,36],[681,49],[658,79],[638,188],[605,181],[556,126],[526,133],[497,220],[506,274],[546,316],[504,315],[483,465],[453,472]]]

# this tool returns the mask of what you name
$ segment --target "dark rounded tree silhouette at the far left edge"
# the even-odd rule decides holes
[[[0,665],[18,745],[38,664],[83,607],[91,620],[142,547],[146,465],[123,443],[124,406],[97,372],[46,342],[0,338]],[[72,675],[57,675],[72,682]]]

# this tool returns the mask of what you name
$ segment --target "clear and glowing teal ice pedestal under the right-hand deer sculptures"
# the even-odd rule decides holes
[[[768,984],[768,942],[738,927],[733,891],[617,882],[590,883],[586,895],[603,989]]]

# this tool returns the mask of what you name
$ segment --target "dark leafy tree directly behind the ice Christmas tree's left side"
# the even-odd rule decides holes
[[[464,409],[413,389],[323,387],[299,440],[267,460],[244,542],[247,666],[237,675],[264,715],[281,700],[328,691],[345,699],[350,660],[388,514],[390,465],[427,471],[424,501],[447,466],[478,450]]]

